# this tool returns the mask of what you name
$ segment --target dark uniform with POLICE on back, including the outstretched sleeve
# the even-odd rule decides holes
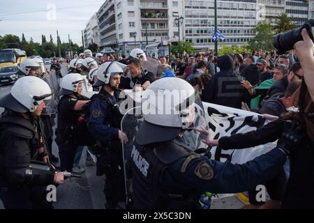
[[[216,162],[191,151],[180,132],[147,121],[140,125],[131,152],[135,208],[197,208],[204,192],[253,189],[276,176],[287,156],[274,148],[246,164]]]

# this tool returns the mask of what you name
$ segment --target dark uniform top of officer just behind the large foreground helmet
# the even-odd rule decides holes
[[[133,89],[135,84],[144,84],[145,82],[149,81],[153,83],[155,81],[155,76],[152,72],[149,71],[142,71],[140,77],[126,77],[121,79],[121,83],[119,84],[120,89]]]

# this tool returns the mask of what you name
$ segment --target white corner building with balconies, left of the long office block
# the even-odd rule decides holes
[[[135,47],[177,42],[173,22],[178,15],[182,15],[180,0],[107,0],[97,13],[100,46],[128,54]],[[183,38],[182,29],[180,33]]]

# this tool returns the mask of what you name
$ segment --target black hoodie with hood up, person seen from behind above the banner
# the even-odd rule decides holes
[[[241,86],[241,78],[234,73],[234,62],[231,56],[220,56],[217,61],[220,72],[213,75],[205,87],[206,102],[241,109],[241,102],[249,103],[251,96]]]

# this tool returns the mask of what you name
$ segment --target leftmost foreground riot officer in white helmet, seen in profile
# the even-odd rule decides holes
[[[63,183],[63,174],[31,168],[43,161],[43,141],[34,118],[45,109],[52,91],[38,77],[22,77],[0,100],[0,195],[5,208],[52,208],[46,186]]]

